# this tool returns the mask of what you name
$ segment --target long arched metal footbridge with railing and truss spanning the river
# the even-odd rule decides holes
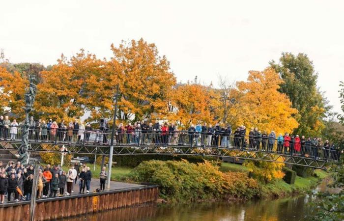
[[[15,139],[2,136],[0,148],[18,150],[21,143],[19,128]],[[71,135],[71,134],[69,134]],[[41,136],[40,131],[29,133],[29,152],[109,155],[111,133],[104,131],[66,131]],[[294,148],[298,145],[300,148]],[[192,155],[230,157],[259,160],[324,169],[326,164],[337,162],[341,152],[334,147],[311,143],[278,143],[275,139],[240,137],[222,134],[196,134],[189,132],[131,132],[116,134],[114,155]]]

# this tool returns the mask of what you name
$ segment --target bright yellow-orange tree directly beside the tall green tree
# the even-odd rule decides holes
[[[245,93],[242,108],[246,114],[240,120],[247,127],[258,127],[268,132],[291,132],[298,126],[292,114],[297,113],[285,94],[278,91],[283,82],[272,68],[262,72],[250,71],[247,82],[239,82],[238,89]]]

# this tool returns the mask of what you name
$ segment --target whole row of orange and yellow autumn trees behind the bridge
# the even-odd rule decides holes
[[[109,60],[85,50],[70,58],[62,55],[56,65],[41,71],[32,112],[35,118],[59,121],[86,112],[90,113],[87,121],[111,118],[118,84],[119,121],[159,119],[174,122],[179,129],[199,122],[220,122],[232,128],[257,126],[277,133],[298,126],[293,118],[297,111],[278,91],[283,81],[272,68],[250,71],[247,81],[232,88],[214,88],[197,82],[177,84],[168,59],[143,39],[111,45],[111,51]],[[0,68],[0,78],[1,112],[22,117],[27,76]]]

